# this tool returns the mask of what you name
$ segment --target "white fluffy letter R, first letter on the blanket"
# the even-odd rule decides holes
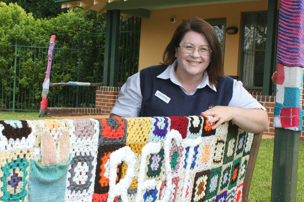
[[[116,183],[117,166],[121,162],[127,164],[126,175]],[[128,202],[127,189],[134,178],[135,154],[130,147],[125,146],[110,154],[109,157],[109,197],[107,201],[113,201],[116,196],[121,196],[123,202]]]

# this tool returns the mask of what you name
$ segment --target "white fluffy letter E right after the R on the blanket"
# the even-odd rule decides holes
[[[161,150],[160,142],[149,142],[146,144],[141,150],[141,159],[140,159],[140,167],[137,179],[137,192],[135,197],[135,202],[140,202],[143,200],[142,194],[145,190],[150,190],[155,187],[155,180],[146,180],[145,172],[146,172],[146,164],[147,164],[147,156],[149,154],[157,154]]]

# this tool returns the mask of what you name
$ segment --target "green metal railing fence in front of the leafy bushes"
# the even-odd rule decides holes
[[[140,43],[140,18],[129,18],[120,22],[118,82],[138,71]],[[96,31],[105,41],[105,30]],[[0,51],[0,110],[39,111],[42,83],[47,69],[47,44],[15,44],[8,52]],[[99,53],[104,53],[104,43],[98,44]],[[50,82],[102,82],[103,54],[97,54],[91,66],[83,69],[85,62],[81,48],[56,45],[50,73]],[[103,64],[98,63],[98,64]],[[102,67],[100,67],[102,66]],[[96,75],[98,75],[96,77]],[[100,76],[99,76],[100,75]],[[92,81],[91,81],[92,80]],[[96,87],[55,86],[47,96],[48,107],[95,107]]]

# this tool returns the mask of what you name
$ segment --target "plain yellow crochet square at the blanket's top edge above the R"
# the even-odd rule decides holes
[[[148,143],[152,119],[147,117],[125,119],[128,121],[126,143]]]

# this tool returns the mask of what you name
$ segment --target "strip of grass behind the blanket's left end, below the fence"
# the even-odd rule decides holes
[[[55,119],[53,117],[39,117],[39,111],[32,112],[0,112],[0,120],[36,120],[36,119]]]

